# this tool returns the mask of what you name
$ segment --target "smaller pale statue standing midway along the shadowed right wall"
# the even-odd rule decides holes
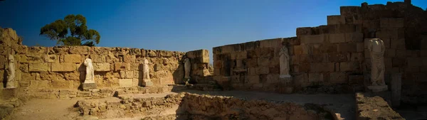
[[[290,61],[290,55],[289,55],[289,50],[288,48],[286,48],[286,46],[283,46],[280,49],[280,78],[284,78],[284,77],[291,77],[289,74],[289,61]]]

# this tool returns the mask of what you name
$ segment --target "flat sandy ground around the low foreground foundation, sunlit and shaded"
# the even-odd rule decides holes
[[[243,92],[243,91],[223,91],[223,92],[206,92],[196,90],[186,90],[184,92],[196,94],[221,95],[228,97],[238,97],[244,99],[266,99],[274,101],[295,102],[297,104],[315,103],[323,104],[328,109],[332,109],[345,120],[352,120],[355,117],[354,95],[353,94],[275,94],[268,92]],[[126,97],[165,97],[167,94],[127,94]],[[31,120],[31,119],[82,119],[78,115],[73,105],[80,99],[32,99],[21,107],[17,108],[11,115],[14,120]],[[120,101],[120,99],[111,97],[105,99],[93,99],[98,101]],[[178,107],[174,107],[159,115],[174,114]],[[88,118],[86,118],[88,119]],[[122,118],[122,119],[140,119],[139,118]],[[117,119],[119,120],[119,119]]]

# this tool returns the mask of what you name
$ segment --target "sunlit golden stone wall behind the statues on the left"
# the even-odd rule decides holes
[[[185,53],[138,48],[87,46],[27,47],[11,28],[0,29],[0,80],[3,88],[9,54],[14,55],[19,89],[78,89],[91,58],[97,87],[135,87],[142,81],[142,60],[149,60],[154,85],[182,83]]]

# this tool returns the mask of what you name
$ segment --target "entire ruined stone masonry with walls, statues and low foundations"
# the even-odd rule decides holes
[[[208,50],[27,47],[2,28],[0,119],[32,99],[75,100],[70,119],[404,119],[391,107],[426,104],[427,11],[339,9],[296,37],[215,47],[213,66]]]

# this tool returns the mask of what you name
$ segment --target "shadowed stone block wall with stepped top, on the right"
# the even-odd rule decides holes
[[[404,73],[406,101],[420,97],[415,93],[427,88],[427,12],[410,1],[342,6],[340,11],[327,16],[327,25],[297,28],[297,37],[214,48],[215,80],[231,89],[284,92],[278,50],[287,45],[296,92],[361,91],[371,67],[367,40],[381,38],[386,45],[386,83],[391,73]]]

